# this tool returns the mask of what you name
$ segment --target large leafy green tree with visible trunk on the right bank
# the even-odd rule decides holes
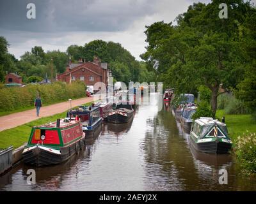
[[[177,17],[177,25],[157,22],[146,27],[147,52],[143,58],[157,69],[160,79],[177,90],[211,89],[211,110],[216,113],[219,89],[236,87],[243,79],[244,45],[239,34],[255,10],[240,0],[228,1],[228,18],[220,19],[221,1],[196,3]],[[156,29],[157,28],[157,29]],[[154,64],[152,64],[154,62]]]

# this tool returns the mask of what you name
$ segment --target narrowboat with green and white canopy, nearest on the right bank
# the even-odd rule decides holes
[[[196,150],[205,153],[225,154],[232,147],[226,124],[211,117],[194,120],[190,139]]]

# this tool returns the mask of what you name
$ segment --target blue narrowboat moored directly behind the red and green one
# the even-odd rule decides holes
[[[99,106],[93,104],[92,106],[79,106],[74,110],[69,110],[67,117],[78,117],[81,120],[86,139],[99,136],[102,125]]]

